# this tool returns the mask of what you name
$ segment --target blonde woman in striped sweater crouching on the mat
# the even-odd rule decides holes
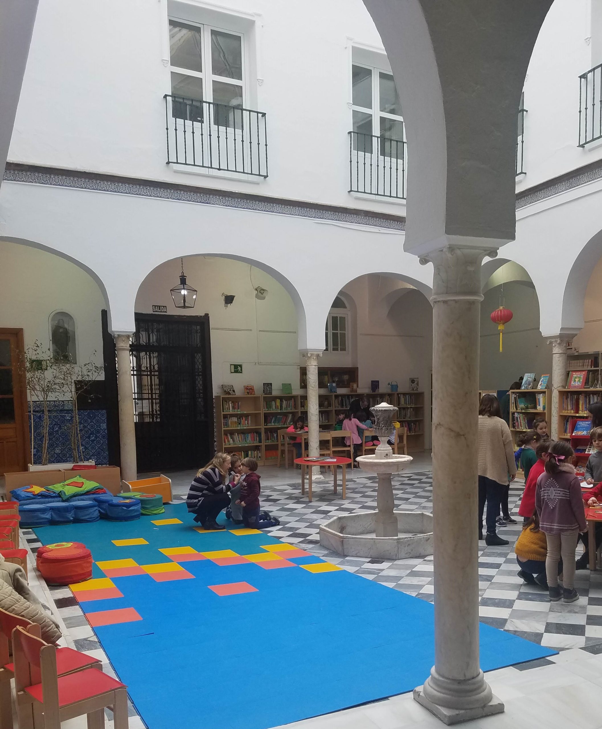
[[[205,468],[192,480],[186,497],[188,511],[204,529],[225,529],[216,522],[217,515],[230,504],[230,484],[227,483],[230,456],[216,453]]]

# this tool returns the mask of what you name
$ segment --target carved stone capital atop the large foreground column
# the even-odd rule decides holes
[[[433,264],[431,301],[482,301],[481,264],[485,256],[495,258],[497,251],[484,243],[482,248],[445,246],[421,257],[421,264]]]

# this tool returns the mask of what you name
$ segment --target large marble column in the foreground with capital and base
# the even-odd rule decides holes
[[[483,246],[487,243],[483,241]],[[485,249],[429,254],[433,276],[435,665],[414,698],[446,724],[504,711],[479,666],[477,400]],[[423,262],[426,262],[423,260]]]

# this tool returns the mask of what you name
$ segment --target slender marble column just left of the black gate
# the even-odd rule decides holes
[[[138,477],[138,469],[136,468],[136,430],[134,429],[130,339],[130,334],[115,335],[115,349],[117,351],[117,393],[119,395],[121,477],[124,481],[133,481]]]

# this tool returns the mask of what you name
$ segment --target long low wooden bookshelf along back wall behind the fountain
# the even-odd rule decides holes
[[[321,430],[333,430],[351,401],[367,397],[370,408],[388,402],[399,408],[398,421],[407,430],[408,452],[424,450],[423,392],[352,392],[318,395]],[[278,459],[278,430],[294,424],[302,415],[307,422],[307,395],[217,395],[216,447],[218,451],[251,457],[259,465]]]

